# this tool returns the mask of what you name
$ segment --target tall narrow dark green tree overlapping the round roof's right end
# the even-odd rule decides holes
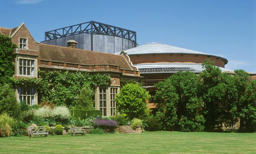
[[[223,97],[226,85],[221,83],[221,70],[214,65],[214,61],[206,59],[202,66],[204,70],[199,74],[201,94],[204,106],[205,129],[213,130],[215,125],[222,125],[220,120]]]

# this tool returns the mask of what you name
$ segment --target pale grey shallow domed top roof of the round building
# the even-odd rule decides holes
[[[157,53],[179,53],[179,54],[201,54],[201,55],[210,55],[210,56],[216,56],[220,57],[217,55],[213,54],[208,54],[208,53],[203,53],[191,49],[186,49],[186,48],[181,48],[177,46],[171,46],[163,43],[157,43],[157,42],[152,42],[152,43],[147,43],[138,47],[133,47],[130,49],[124,50],[128,55],[132,54],[157,54]],[[221,57],[223,58],[223,57]],[[225,59],[225,58],[223,58]],[[225,59],[226,60],[226,59]],[[227,60],[226,60],[227,61]]]

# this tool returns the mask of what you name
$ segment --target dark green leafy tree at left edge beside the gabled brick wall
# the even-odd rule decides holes
[[[9,36],[0,34],[0,86],[11,83],[14,74],[13,49],[16,47]]]

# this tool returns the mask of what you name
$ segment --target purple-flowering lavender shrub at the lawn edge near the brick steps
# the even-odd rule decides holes
[[[109,132],[114,132],[117,123],[115,120],[105,120],[105,119],[97,119],[94,121],[94,128],[101,128],[103,130],[107,130]]]

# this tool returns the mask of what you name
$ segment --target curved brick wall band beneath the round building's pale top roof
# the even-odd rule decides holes
[[[202,63],[205,59],[209,58],[211,61],[215,61],[215,65],[224,67],[225,61],[222,58],[207,55],[195,55],[195,54],[139,54],[129,55],[133,64],[138,63],[162,63],[162,62],[193,62]]]

